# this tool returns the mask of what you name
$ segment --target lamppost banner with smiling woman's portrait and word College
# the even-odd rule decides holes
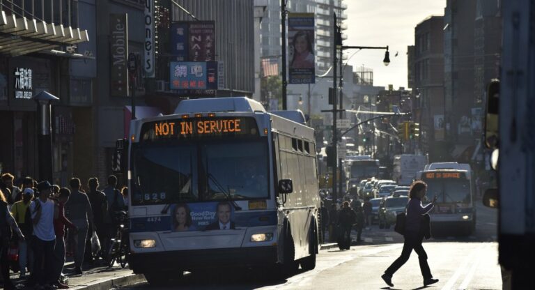
[[[314,13],[288,13],[290,84],[314,84]]]

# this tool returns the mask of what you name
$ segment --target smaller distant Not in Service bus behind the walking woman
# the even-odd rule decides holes
[[[472,234],[476,228],[474,181],[470,165],[457,162],[431,163],[418,178],[427,183],[427,200],[435,195],[431,229]]]

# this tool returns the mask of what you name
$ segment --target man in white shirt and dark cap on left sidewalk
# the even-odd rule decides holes
[[[54,216],[56,206],[49,199],[52,185],[48,181],[41,181],[37,185],[39,198],[30,204],[31,220],[33,221],[33,272],[32,279],[37,283],[36,289],[43,286],[49,288],[55,282],[52,279],[54,259]],[[42,268],[41,268],[42,266]]]

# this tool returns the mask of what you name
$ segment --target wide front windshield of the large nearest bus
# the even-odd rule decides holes
[[[269,197],[265,139],[151,142],[132,151],[132,205]]]

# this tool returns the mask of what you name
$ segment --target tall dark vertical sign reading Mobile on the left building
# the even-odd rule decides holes
[[[114,97],[127,97],[128,70],[126,67],[128,55],[128,24],[127,15],[109,15],[110,35],[110,95]]]

